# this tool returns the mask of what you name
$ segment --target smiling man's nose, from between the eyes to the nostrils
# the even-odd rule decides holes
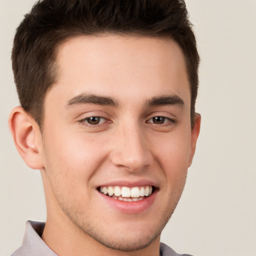
[[[112,141],[110,158],[114,165],[132,172],[142,171],[152,164],[153,157],[143,128],[130,123],[119,127]]]

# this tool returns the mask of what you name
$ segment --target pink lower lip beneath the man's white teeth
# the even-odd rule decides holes
[[[105,200],[107,204],[110,204],[112,207],[120,211],[121,213],[126,214],[136,214],[146,211],[154,202],[157,190],[155,190],[150,196],[145,197],[139,201],[121,201],[118,199],[114,199],[110,196],[107,196],[103,193],[97,191],[99,196]]]

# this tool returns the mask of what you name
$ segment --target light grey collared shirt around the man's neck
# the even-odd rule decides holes
[[[22,245],[11,256],[58,256],[41,239],[45,223],[28,220],[22,240]],[[177,254],[164,243],[160,243],[161,256],[191,256],[189,254]]]

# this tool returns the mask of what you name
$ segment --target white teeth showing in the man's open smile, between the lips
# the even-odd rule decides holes
[[[150,196],[155,188],[154,186],[100,186],[97,190],[105,194],[106,196],[112,197],[120,201],[140,201]]]

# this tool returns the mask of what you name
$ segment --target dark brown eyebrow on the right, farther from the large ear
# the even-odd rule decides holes
[[[178,95],[164,95],[153,97],[146,101],[146,106],[157,106],[157,105],[184,105],[184,101]]]

